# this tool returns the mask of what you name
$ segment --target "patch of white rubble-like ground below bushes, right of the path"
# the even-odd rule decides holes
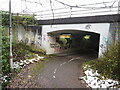
[[[85,76],[81,77],[81,79],[91,88],[115,88],[115,86],[118,85],[118,81],[101,76],[97,70],[95,71],[89,68],[86,69],[84,73]],[[101,77],[101,79],[99,77]]]

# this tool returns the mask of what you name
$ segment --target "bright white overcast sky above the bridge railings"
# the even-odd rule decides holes
[[[50,4],[50,0],[11,0],[12,12],[25,13],[25,14],[31,13],[31,14],[36,14],[38,16],[40,15],[45,16],[46,14],[51,14],[51,16],[53,16],[53,13],[55,14],[58,12],[59,14],[62,15],[68,12],[66,14],[66,16],[68,16],[68,14],[70,14],[71,11],[76,11],[76,10],[91,11],[91,8],[89,7],[105,7],[105,6],[109,7],[111,5],[113,5],[114,7],[118,5],[117,2],[119,0],[51,0],[51,1],[52,3]],[[110,3],[107,3],[107,2],[110,2]],[[70,8],[68,6],[68,5],[81,6],[81,5],[93,4],[93,3],[101,3],[101,4],[82,6],[82,7],[87,7],[87,8],[82,8],[82,9],[75,8],[75,7]],[[63,9],[58,9],[58,8],[63,8]],[[54,10],[54,9],[57,9],[57,10]],[[9,10],[9,0],[0,0],[0,10],[3,10],[3,11]],[[109,8],[109,10],[111,10],[111,8]],[[78,13],[78,12],[74,12],[74,13]]]

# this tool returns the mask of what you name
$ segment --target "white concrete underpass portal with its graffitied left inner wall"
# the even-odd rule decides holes
[[[49,36],[48,33],[62,30],[79,30],[84,32],[93,32],[100,35],[99,40],[99,56],[105,51],[108,44],[108,33],[110,29],[109,23],[88,23],[88,24],[65,24],[65,25],[43,25],[42,26],[42,47],[47,54],[64,52],[56,42],[56,36]],[[69,33],[69,32],[68,32]],[[75,36],[74,36],[75,37]],[[76,36],[77,39],[77,36]],[[77,40],[73,40],[78,42]],[[80,45],[78,45],[80,47]],[[68,49],[69,50],[69,49]]]

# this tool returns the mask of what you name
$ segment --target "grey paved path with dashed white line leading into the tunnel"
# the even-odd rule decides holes
[[[93,59],[88,57],[84,55],[54,57],[45,63],[35,81],[42,88],[86,88],[78,77],[82,74],[82,63]]]

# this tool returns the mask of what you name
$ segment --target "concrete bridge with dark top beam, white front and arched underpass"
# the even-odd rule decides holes
[[[101,56],[108,45],[119,40],[120,15],[39,20],[42,47],[47,54],[91,50]]]

